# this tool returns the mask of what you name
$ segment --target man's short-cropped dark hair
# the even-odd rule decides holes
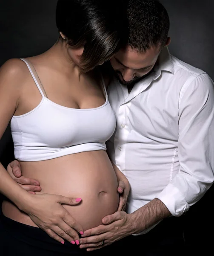
[[[153,45],[165,46],[169,30],[169,16],[158,0],[128,0],[128,45],[145,52]]]

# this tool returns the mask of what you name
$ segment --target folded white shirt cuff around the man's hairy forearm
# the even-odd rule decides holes
[[[183,194],[172,184],[168,184],[155,198],[162,201],[173,216],[180,216],[189,209],[189,204]]]

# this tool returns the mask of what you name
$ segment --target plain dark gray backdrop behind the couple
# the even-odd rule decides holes
[[[54,44],[58,37],[55,26],[56,2],[57,0],[0,0],[0,65],[9,58],[37,55]],[[161,2],[168,10],[171,20],[171,54],[203,69],[214,80],[214,1]],[[0,160],[6,166],[13,158],[13,144],[8,128],[0,141]],[[212,251],[213,190],[212,187],[182,217],[185,220],[185,238],[190,253],[198,253],[200,249],[203,253],[208,249]],[[208,235],[210,231],[211,234]]]

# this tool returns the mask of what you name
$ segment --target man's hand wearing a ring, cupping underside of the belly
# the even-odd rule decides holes
[[[133,216],[126,212],[115,212],[104,217],[102,221],[103,225],[84,232],[80,239],[80,248],[88,248],[87,251],[97,250],[135,233]]]

